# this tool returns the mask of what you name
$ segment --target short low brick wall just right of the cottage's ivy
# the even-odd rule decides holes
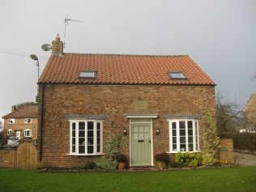
[[[220,139],[218,154],[220,162],[233,162],[233,139]]]

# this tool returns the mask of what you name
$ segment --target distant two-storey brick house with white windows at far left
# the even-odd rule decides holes
[[[19,139],[37,138],[38,105],[28,105],[20,108],[11,107],[11,113],[3,116],[5,137],[16,136]]]

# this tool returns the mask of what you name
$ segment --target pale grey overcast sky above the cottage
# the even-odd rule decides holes
[[[0,117],[11,105],[35,101],[40,71],[59,33],[66,53],[177,55],[190,58],[244,106],[256,92],[255,0],[1,0]]]

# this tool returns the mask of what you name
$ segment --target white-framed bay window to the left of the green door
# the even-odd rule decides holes
[[[101,155],[102,143],[101,121],[70,121],[70,155]]]

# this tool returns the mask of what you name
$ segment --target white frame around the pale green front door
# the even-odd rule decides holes
[[[145,118],[147,118],[147,119],[150,119],[150,122],[129,122],[129,124],[130,124],[130,126],[129,126],[129,133],[130,133],[130,143],[131,143],[131,126],[132,126],[132,124],[135,124],[135,123],[137,123],[137,124],[139,124],[139,123],[148,123],[148,124],[150,124],[150,133],[151,133],[151,166],[154,166],[154,160],[153,160],[153,156],[154,156],[154,150],[153,150],[153,126],[152,126],[152,118],[148,118],[148,117],[143,117],[144,119]],[[143,119],[142,118],[142,119]],[[138,117],[137,118],[130,118],[130,120],[132,120],[132,119],[139,119]],[[129,145],[130,145],[130,143],[129,143]],[[145,166],[147,166],[148,164],[145,164]],[[136,166],[136,165],[133,165],[133,164],[131,164],[131,146],[130,146],[130,162],[129,162],[129,166],[131,167],[131,166]],[[137,165],[137,166],[140,166],[140,165]]]

